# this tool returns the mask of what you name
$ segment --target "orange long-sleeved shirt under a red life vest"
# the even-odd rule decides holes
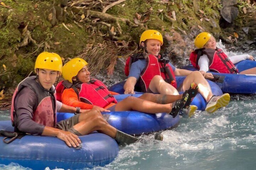
[[[113,91],[109,91],[110,94],[115,95],[118,94]],[[72,106],[72,107],[80,107],[81,109],[92,109],[92,104],[87,104],[84,102],[81,102],[78,100],[77,94],[75,93],[75,90],[72,88],[65,89],[61,96],[62,103]],[[113,106],[115,103],[110,103],[108,106],[105,107],[105,109]]]

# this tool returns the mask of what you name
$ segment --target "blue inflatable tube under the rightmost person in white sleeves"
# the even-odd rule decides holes
[[[236,63],[235,66],[241,72],[256,67],[256,61],[243,60]],[[184,66],[183,69],[197,70],[191,64]],[[256,75],[209,73],[212,73],[217,78],[215,83],[221,88],[222,92],[237,94],[256,93]]]

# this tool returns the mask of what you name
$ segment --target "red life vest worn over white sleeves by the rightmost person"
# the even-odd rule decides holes
[[[230,61],[229,57],[219,48],[216,48],[216,50],[201,48],[193,51],[189,60],[195,68],[200,69],[198,60],[203,54],[206,54],[209,59],[209,70],[211,72],[238,73],[238,69]]]

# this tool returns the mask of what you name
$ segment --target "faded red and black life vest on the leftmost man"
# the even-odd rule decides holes
[[[51,91],[46,91],[43,87],[36,82],[36,76],[27,77],[22,82],[18,84],[18,87],[15,89],[11,101],[11,122],[16,129],[15,123],[15,106],[14,101],[17,94],[24,88],[28,87],[35,92],[37,95],[37,106],[33,110],[32,120],[38,124],[56,127],[56,94],[51,93],[54,91],[54,86],[51,88]]]

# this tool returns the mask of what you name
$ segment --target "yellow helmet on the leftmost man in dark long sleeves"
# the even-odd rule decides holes
[[[37,56],[35,63],[36,69],[49,69],[62,72],[62,60],[61,57],[56,53],[42,52]]]

